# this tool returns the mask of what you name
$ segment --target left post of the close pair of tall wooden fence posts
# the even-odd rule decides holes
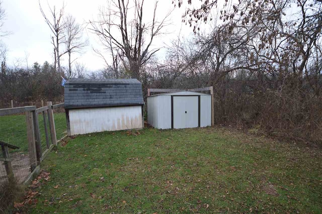
[[[31,171],[37,166],[37,154],[36,154],[36,142],[35,142],[35,128],[34,128],[34,116],[32,111],[26,112],[26,124],[27,124],[27,138],[29,147],[29,159]]]

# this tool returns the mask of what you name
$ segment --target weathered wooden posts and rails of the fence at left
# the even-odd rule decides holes
[[[14,114],[25,114],[26,115],[26,130],[28,140],[28,151],[29,151],[29,163],[30,163],[30,174],[24,179],[24,183],[28,183],[34,174],[37,174],[40,170],[40,162],[44,160],[46,155],[57,145],[56,129],[53,110],[56,108],[63,107],[64,103],[52,105],[52,102],[47,102],[46,106],[36,109],[36,106],[24,106],[10,109],[0,109],[0,116],[9,116]],[[42,139],[40,135],[40,125],[38,117],[43,118],[44,132],[46,147],[42,148]],[[47,124],[49,122],[49,126]],[[66,135],[67,136],[67,135]],[[64,137],[66,137],[64,136]],[[63,138],[64,138],[63,137]],[[60,139],[61,140],[61,139]],[[13,173],[11,167],[11,158],[9,153],[9,146],[15,147],[14,145],[2,142],[3,154],[6,171],[8,176]],[[12,148],[15,149],[15,148]],[[5,156],[6,155],[6,156]],[[0,159],[1,161],[2,159]],[[7,170],[8,168],[8,170]],[[10,170],[11,169],[11,170]]]

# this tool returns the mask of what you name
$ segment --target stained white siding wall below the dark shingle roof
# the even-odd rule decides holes
[[[71,135],[143,128],[140,105],[69,110],[69,123]]]

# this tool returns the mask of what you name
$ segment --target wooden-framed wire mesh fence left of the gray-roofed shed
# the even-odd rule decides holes
[[[66,133],[63,103],[50,102],[39,109],[36,106],[0,109],[0,182],[10,174],[20,183],[28,180],[45,153]]]

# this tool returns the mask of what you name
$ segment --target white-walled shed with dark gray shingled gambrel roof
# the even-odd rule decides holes
[[[68,135],[143,128],[137,79],[70,79],[65,83]]]

